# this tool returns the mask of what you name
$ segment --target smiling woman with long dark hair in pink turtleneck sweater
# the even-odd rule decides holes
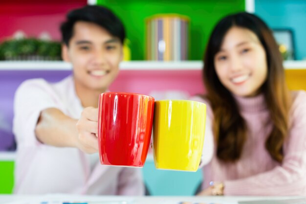
[[[288,90],[271,30],[252,14],[227,16],[204,62],[207,93],[193,100],[207,104],[214,148],[204,143],[212,157],[198,195],[306,195],[306,92]]]

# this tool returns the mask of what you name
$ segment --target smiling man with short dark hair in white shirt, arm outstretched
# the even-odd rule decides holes
[[[98,97],[118,74],[123,24],[105,7],[85,6],[61,31],[73,75],[28,80],[16,92],[14,192],[143,195],[139,169],[103,166],[97,154]]]

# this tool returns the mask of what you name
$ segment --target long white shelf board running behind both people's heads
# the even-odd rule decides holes
[[[202,61],[128,61],[120,64],[121,70],[200,70]],[[286,69],[306,69],[306,61],[285,61]],[[71,70],[70,63],[62,61],[2,61],[0,70]]]

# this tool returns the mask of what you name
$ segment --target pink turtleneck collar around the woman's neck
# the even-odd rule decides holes
[[[264,95],[241,97],[233,95],[241,112],[261,112],[267,109]]]

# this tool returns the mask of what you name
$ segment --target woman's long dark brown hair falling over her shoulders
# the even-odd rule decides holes
[[[273,123],[265,147],[273,159],[282,162],[291,104],[285,84],[283,59],[268,26],[259,17],[245,12],[227,16],[219,21],[210,36],[204,56],[203,81],[207,90],[205,97],[214,113],[213,131],[217,141],[217,156],[223,161],[240,159],[247,137],[246,122],[240,115],[232,93],[219,81],[214,65],[215,55],[220,50],[223,38],[233,26],[246,28],[255,33],[264,47],[268,72],[261,91]]]

